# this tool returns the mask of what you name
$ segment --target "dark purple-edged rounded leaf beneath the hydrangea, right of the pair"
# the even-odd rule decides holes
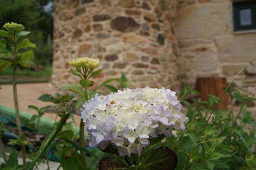
[[[145,169],[175,169],[178,164],[176,153],[167,148],[159,147],[151,151],[141,163]]]

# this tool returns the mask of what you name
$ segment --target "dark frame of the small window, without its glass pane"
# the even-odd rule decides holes
[[[251,8],[252,24],[240,25],[240,10]],[[256,1],[233,3],[234,31],[256,30]]]

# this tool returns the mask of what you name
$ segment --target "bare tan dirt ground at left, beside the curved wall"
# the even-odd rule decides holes
[[[0,104],[3,106],[14,108],[13,101],[13,86],[10,85],[1,85],[2,89],[0,89]],[[27,106],[34,105],[38,108],[54,105],[51,102],[43,102],[37,100],[43,94],[50,94],[55,96],[55,93],[61,93],[57,88],[52,87],[51,83],[30,83],[30,84],[17,84],[18,91],[18,103],[19,109],[28,113],[37,114],[37,112],[33,109],[29,109]],[[80,116],[74,115],[76,119],[76,123],[79,124]],[[55,120],[56,115],[45,113],[43,117],[47,117]],[[59,120],[59,116],[57,116],[57,120]],[[69,120],[72,121],[71,119]]]

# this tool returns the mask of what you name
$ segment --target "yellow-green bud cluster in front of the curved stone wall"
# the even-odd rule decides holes
[[[76,58],[69,62],[70,66],[76,67],[76,68],[89,68],[90,70],[94,69],[95,67],[99,66],[99,59],[91,59],[88,57],[81,57],[81,58]]]

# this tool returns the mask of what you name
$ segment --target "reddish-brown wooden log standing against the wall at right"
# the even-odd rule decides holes
[[[225,77],[205,77],[197,78],[196,80],[196,90],[198,90],[201,95],[202,101],[208,101],[208,94],[221,97],[224,90],[222,87],[227,87],[227,81]],[[221,101],[224,104],[218,104],[216,109],[225,108],[228,104],[229,96],[227,93],[224,94]]]

